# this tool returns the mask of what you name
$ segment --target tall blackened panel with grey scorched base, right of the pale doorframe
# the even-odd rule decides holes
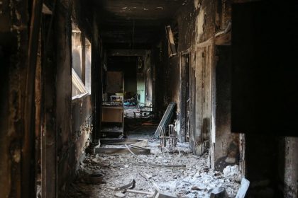
[[[238,134],[231,133],[231,46],[216,47],[216,170],[238,164]],[[228,160],[227,160],[228,158]]]

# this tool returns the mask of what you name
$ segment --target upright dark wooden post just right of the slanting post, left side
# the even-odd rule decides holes
[[[54,1],[53,13],[55,13],[56,1]],[[57,197],[57,171],[56,171],[56,53],[54,15],[43,18],[43,125],[41,142],[41,197]]]

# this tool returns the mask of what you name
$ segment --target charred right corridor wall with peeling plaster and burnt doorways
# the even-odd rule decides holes
[[[187,140],[188,135],[189,144],[197,154],[202,154],[206,148],[214,146],[214,153],[211,153],[214,162],[226,156],[228,148],[236,147],[238,153],[238,136],[231,134],[231,47],[221,47],[221,44],[214,40],[214,35],[225,30],[231,22],[231,4],[232,1],[221,0],[189,1],[177,12],[175,21],[170,23],[174,29],[177,24],[177,56],[168,57],[166,37],[155,50],[155,60],[158,62],[156,84],[160,85],[156,93],[158,106],[165,109],[170,101],[177,103],[180,141]],[[211,40],[211,48],[214,48],[208,52],[211,64],[207,69],[211,75],[211,82],[209,88],[202,88],[202,83],[206,81],[206,77],[203,76],[206,69],[202,61],[204,48],[199,46],[207,40]],[[228,44],[222,45],[231,45],[231,40],[225,41]],[[185,90],[186,68],[182,64],[184,54],[189,54],[189,98],[186,98]],[[202,112],[206,106],[206,96],[203,93],[211,94],[208,104],[211,105],[210,114]],[[215,139],[212,145],[209,145],[206,140],[211,141],[212,129]]]

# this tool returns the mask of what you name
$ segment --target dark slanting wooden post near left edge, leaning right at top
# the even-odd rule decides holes
[[[22,148],[22,196],[35,196],[35,168],[31,163],[34,158],[34,129],[35,129],[35,112],[34,112],[34,89],[35,89],[35,71],[36,59],[38,52],[38,38],[40,32],[40,19],[42,14],[43,0],[32,1],[32,13],[30,21],[30,33],[28,42],[28,62],[26,69],[26,91],[23,104],[23,148]]]

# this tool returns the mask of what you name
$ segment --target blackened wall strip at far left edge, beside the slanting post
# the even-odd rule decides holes
[[[23,138],[23,91],[28,47],[26,1],[1,1],[0,8],[0,187],[3,197],[20,197]]]

